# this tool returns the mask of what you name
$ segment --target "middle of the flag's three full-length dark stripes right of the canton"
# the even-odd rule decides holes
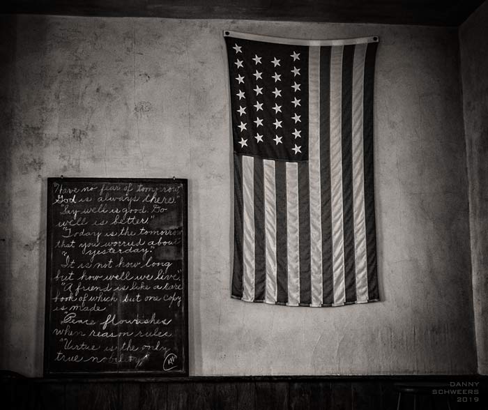
[[[353,195],[353,61],[354,45],[342,54],[342,219],[344,226],[344,283],[346,303],[356,301]]]

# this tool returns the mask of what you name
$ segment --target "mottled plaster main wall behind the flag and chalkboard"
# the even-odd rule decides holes
[[[189,179],[190,373],[475,372],[457,31],[224,20],[3,17],[1,362],[42,372],[47,176]],[[378,35],[380,303],[230,298],[222,31]]]

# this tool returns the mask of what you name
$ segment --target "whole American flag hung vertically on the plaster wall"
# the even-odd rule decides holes
[[[232,297],[379,300],[373,177],[378,38],[224,31],[234,147]]]

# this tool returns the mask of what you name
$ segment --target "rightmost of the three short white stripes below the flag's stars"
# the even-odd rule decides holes
[[[300,248],[298,231],[298,164],[287,162],[288,305],[300,303]]]

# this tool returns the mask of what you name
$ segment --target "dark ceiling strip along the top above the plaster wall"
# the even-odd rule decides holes
[[[483,0],[3,0],[2,13],[457,26]]]

